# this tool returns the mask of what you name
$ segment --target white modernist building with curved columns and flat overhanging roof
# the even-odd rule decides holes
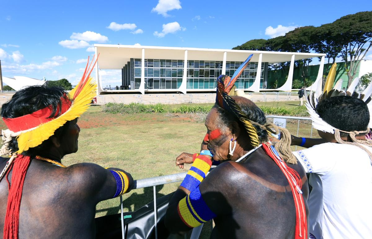
[[[301,52],[245,51],[228,49],[153,47],[141,45],[94,44],[97,93],[101,92],[215,92],[220,74],[232,76],[235,69],[253,54],[247,68],[235,82],[237,89],[259,92],[267,86],[269,64],[289,61],[288,78],[279,91],[291,91],[294,61],[325,54]],[[103,90],[100,69],[121,69],[122,86],[130,90]]]

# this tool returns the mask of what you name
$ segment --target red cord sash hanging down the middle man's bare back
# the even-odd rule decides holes
[[[280,170],[287,178],[289,186],[291,187],[296,208],[295,239],[307,238],[306,208],[301,191],[302,180],[298,173],[294,169],[289,168],[286,163],[280,158],[274,147],[272,147],[270,144],[262,144],[262,148],[265,153],[270,158],[272,158],[272,160],[274,160],[276,165],[279,166]]]

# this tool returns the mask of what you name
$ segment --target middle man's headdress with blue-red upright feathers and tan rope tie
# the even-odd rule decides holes
[[[247,67],[249,61],[251,60],[253,54],[251,54],[247,60],[240,65],[240,67],[235,71],[234,75],[230,78],[229,76],[221,75],[217,79],[217,94],[216,94],[216,103],[229,113],[235,115],[239,121],[244,125],[245,130],[247,131],[250,138],[250,145],[252,147],[259,146],[260,139],[257,134],[256,127],[260,127],[270,133],[278,134],[278,130],[282,131],[282,139],[275,145],[275,149],[278,150],[280,156],[288,163],[295,164],[296,159],[291,153],[291,134],[285,128],[279,128],[278,126],[270,123],[265,125],[260,125],[257,122],[251,121],[246,114],[241,110],[240,106],[231,98],[229,92],[234,85],[235,81],[238,79],[240,74],[243,72],[244,68]],[[254,125],[256,127],[254,127]],[[274,130],[272,130],[274,128]]]

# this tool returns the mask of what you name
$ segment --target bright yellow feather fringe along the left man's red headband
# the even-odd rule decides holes
[[[54,134],[54,131],[59,127],[64,125],[67,121],[76,119],[80,117],[89,107],[89,103],[92,98],[96,95],[97,85],[93,83],[92,77],[89,77],[88,82],[81,90],[81,92],[76,96],[70,108],[59,117],[39,125],[34,130],[21,133],[17,137],[18,148],[17,153],[22,153],[29,148],[36,147],[40,145],[44,140],[47,140],[50,136]],[[76,90],[75,88],[73,90]],[[70,92],[70,95],[74,95]]]

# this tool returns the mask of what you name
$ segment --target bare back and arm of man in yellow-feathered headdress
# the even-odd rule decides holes
[[[0,168],[8,159],[0,158]],[[96,204],[112,198],[113,176],[94,175],[94,164],[61,168],[33,159],[23,184],[19,214],[19,238],[95,238]],[[106,171],[106,169],[102,170]],[[9,173],[11,183],[12,171]],[[104,185],[104,190],[102,186]],[[0,238],[3,237],[8,184],[0,182]],[[106,194],[106,195],[104,195]]]

